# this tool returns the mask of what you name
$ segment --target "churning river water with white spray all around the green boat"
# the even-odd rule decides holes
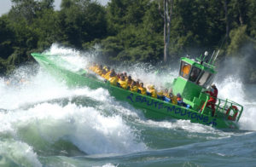
[[[49,52],[78,67],[95,59],[56,45]],[[116,68],[155,85],[177,76],[145,65]],[[240,130],[150,120],[107,89],[67,88],[37,63],[20,66],[9,80],[0,78],[0,166],[256,165],[256,85],[235,76],[216,85],[219,97],[244,106]]]

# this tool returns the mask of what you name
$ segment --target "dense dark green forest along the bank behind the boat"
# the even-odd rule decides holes
[[[80,50],[100,46],[104,60],[156,63],[164,57],[163,0],[11,0],[0,17],[0,73],[32,61],[52,43]],[[245,82],[256,83],[255,0],[173,0],[168,63],[221,49],[219,61],[245,61]],[[220,62],[218,62],[220,63]],[[234,66],[236,68],[236,66]],[[232,71],[232,69],[230,69]]]

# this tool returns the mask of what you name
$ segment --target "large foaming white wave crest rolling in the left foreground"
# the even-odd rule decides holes
[[[91,107],[43,103],[29,110],[2,113],[0,132],[37,123],[37,129],[49,142],[61,138],[72,141],[84,153],[131,153],[147,149],[119,116],[106,117]],[[4,128],[3,124],[6,128]]]

